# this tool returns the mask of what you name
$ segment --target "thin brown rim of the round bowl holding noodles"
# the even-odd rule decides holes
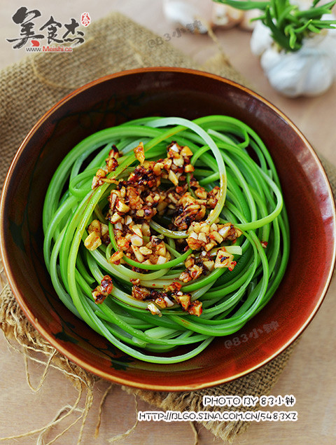
[[[12,163],[10,164],[9,170],[6,174],[6,179],[3,182],[3,188],[1,191],[1,201],[0,201],[0,216],[1,216],[1,221],[0,221],[0,254],[1,254],[1,259],[3,261],[3,269],[6,273],[6,277],[8,279],[8,284],[10,285],[10,289],[12,289],[13,295],[15,296],[15,299],[18,301],[20,307],[22,308],[23,312],[25,313],[25,315],[27,316],[29,322],[31,322],[31,324],[36,328],[36,330],[56,349],[58,350],[62,355],[66,356],[69,358],[69,360],[71,360],[72,362],[78,364],[78,366],[82,367],[83,369],[86,369],[87,371],[92,372],[92,374],[95,374],[101,378],[104,378],[106,380],[109,381],[113,381],[114,383],[119,383],[121,385],[127,385],[133,388],[139,388],[139,389],[144,389],[144,390],[158,390],[158,391],[169,391],[169,392],[174,392],[174,391],[183,391],[183,390],[199,390],[202,388],[210,388],[216,385],[221,385],[223,383],[228,383],[230,381],[234,381],[237,378],[240,378],[242,376],[246,376],[247,374],[250,374],[251,372],[255,371],[256,369],[259,369],[260,367],[264,366],[265,364],[271,362],[276,356],[278,356],[279,354],[281,354],[281,352],[283,352],[283,350],[286,350],[286,348],[288,348],[288,346],[290,346],[291,343],[293,343],[293,341],[295,341],[295,339],[300,336],[300,334],[302,334],[302,332],[308,327],[309,323],[311,322],[311,320],[313,320],[314,316],[316,315],[318,308],[320,308],[321,303],[323,302],[323,299],[325,298],[325,294],[328,291],[328,287],[330,285],[330,281],[332,278],[332,273],[333,273],[333,269],[335,266],[335,257],[336,257],[336,236],[334,236],[334,241],[333,241],[333,255],[332,255],[332,261],[330,263],[330,269],[329,269],[329,273],[328,273],[328,277],[327,280],[325,281],[325,285],[323,287],[323,290],[321,292],[321,296],[318,299],[316,306],[314,307],[314,309],[311,311],[311,314],[309,315],[309,317],[307,318],[306,322],[304,322],[304,324],[302,324],[302,326],[300,327],[300,329],[298,329],[295,334],[293,335],[292,338],[290,338],[290,340],[288,340],[286,343],[284,343],[283,345],[281,345],[280,348],[278,348],[278,350],[276,350],[276,352],[274,352],[272,355],[269,355],[269,357],[267,357],[265,360],[263,360],[262,362],[259,362],[258,364],[255,364],[253,367],[249,368],[249,369],[245,369],[244,371],[241,371],[233,376],[230,377],[226,377],[226,378],[221,378],[221,379],[217,379],[216,381],[211,381],[211,379],[209,379],[209,381],[207,381],[206,383],[200,383],[200,384],[188,384],[188,385],[174,385],[174,387],[172,386],[167,386],[167,385],[148,385],[147,383],[139,383],[139,382],[134,382],[134,381],[130,381],[130,379],[127,378],[120,378],[120,377],[116,377],[113,376],[109,373],[106,373],[102,370],[100,370],[98,367],[94,367],[91,364],[88,364],[87,362],[85,362],[84,360],[80,360],[78,359],[78,357],[76,357],[76,355],[73,355],[72,352],[69,352],[69,350],[67,350],[66,348],[62,347],[62,345],[57,341],[57,338],[51,336],[48,331],[46,331],[45,329],[43,329],[43,327],[41,326],[41,324],[38,322],[38,319],[34,316],[34,313],[31,312],[31,310],[27,307],[26,303],[25,303],[25,297],[22,295],[22,293],[20,292],[20,289],[18,289],[18,287],[16,287],[15,285],[15,280],[12,279],[12,272],[10,270],[10,262],[8,261],[8,252],[6,252],[6,249],[4,249],[4,240],[5,240],[5,234],[4,234],[4,228],[3,228],[3,207],[5,205],[5,197],[6,197],[6,191],[8,189],[8,184],[10,182],[11,179],[11,174],[13,171],[13,168],[15,167],[15,164],[18,160],[18,158],[20,157],[22,151],[25,149],[25,146],[27,144],[27,142],[29,141],[29,139],[31,138],[31,135],[34,134],[36,128],[38,128],[44,121],[46,118],[48,118],[48,116],[50,116],[50,114],[52,114],[56,109],[58,109],[59,107],[62,106],[62,104],[64,104],[67,100],[69,100],[71,97],[78,95],[79,93],[81,93],[84,90],[87,90],[88,88],[91,88],[93,85],[97,85],[99,83],[103,83],[104,81],[108,81],[111,78],[118,78],[120,76],[125,76],[125,75],[132,75],[132,74],[140,74],[143,72],[179,72],[179,73],[186,73],[186,74],[193,74],[193,75],[197,75],[200,77],[208,77],[208,78],[214,78],[217,81],[221,81],[221,82],[225,82],[228,83],[229,85],[238,88],[239,90],[243,90],[245,93],[248,93],[249,95],[255,97],[255,99],[257,99],[260,102],[263,102],[265,105],[267,105],[267,107],[269,107],[270,109],[272,109],[273,111],[275,111],[276,114],[278,114],[284,121],[286,121],[286,123],[288,125],[290,125],[290,127],[293,129],[293,131],[300,137],[300,139],[302,139],[302,141],[304,142],[305,146],[307,147],[307,149],[309,150],[311,156],[313,156],[314,160],[316,160],[316,163],[318,165],[319,170],[321,171],[321,173],[323,174],[323,177],[325,179],[325,184],[327,185],[328,188],[328,195],[329,198],[331,200],[332,203],[332,218],[333,218],[333,225],[334,225],[334,233],[336,233],[336,210],[335,210],[335,201],[333,198],[333,194],[332,194],[332,189],[330,186],[330,182],[328,180],[328,176],[325,173],[324,167],[321,164],[321,160],[319,160],[318,156],[316,155],[314,149],[312,148],[311,144],[308,142],[307,138],[304,137],[304,135],[302,134],[302,132],[300,132],[300,130],[297,128],[297,126],[290,121],[290,118],[288,118],[285,114],[283,114],[282,111],[280,111],[277,107],[275,107],[271,102],[269,102],[268,100],[266,100],[264,97],[262,97],[261,95],[259,95],[258,93],[255,93],[253,90],[251,90],[250,88],[245,87],[244,85],[241,85],[235,81],[232,81],[228,78],[224,78],[222,76],[218,76],[217,74],[212,74],[209,73],[207,71],[200,71],[197,69],[190,69],[190,68],[181,68],[181,67],[148,67],[148,68],[136,68],[136,69],[127,69],[127,70],[123,70],[123,71],[118,71],[117,73],[114,74],[108,74],[106,76],[103,76],[101,78],[97,78],[94,81],[91,81],[89,83],[85,83],[85,85],[80,86],[79,88],[77,88],[76,90],[73,90],[71,93],[69,93],[68,95],[64,96],[61,100],[59,100],[56,104],[54,104],[48,111],[45,112],[45,114],[43,114],[43,116],[41,116],[41,118],[38,119],[38,121],[35,123],[35,125],[31,128],[31,130],[29,131],[29,133],[27,134],[27,136],[25,137],[25,139],[23,140],[22,144],[20,144],[20,147],[18,149],[18,151],[15,153],[15,156],[12,160]]]

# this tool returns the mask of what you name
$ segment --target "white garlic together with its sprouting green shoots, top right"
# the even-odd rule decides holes
[[[272,87],[288,97],[324,93],[336,78],[336,20],[327,20],[336,0],[308,8],[290,0],[214,0],[242,11],[258,8],[251,50]],[[332,17],[333,19],[333,17]]]

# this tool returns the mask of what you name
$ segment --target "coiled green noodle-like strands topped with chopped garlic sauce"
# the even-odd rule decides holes
[[[230,116],[140,118],[86,137],[50,181],[43,231],[64,305],[159,364],[241,329],[271,299],[289,254],[272,158]]]

